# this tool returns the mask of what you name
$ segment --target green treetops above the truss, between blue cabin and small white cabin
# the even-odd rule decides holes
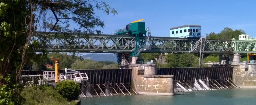
[[[207,39],[238,39],[238,36],[241,34],[246,34],[244,30],[235,30],[233,31],[229,27],[225,27],[220,33],[210,33],[206,34]]]

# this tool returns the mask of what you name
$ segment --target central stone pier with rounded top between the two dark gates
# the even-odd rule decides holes
[[[156,64],[134,64],[131,86],[138,94],[174,95],[173,75],[156,75]]]

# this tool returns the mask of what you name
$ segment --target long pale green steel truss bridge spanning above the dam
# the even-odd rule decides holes
[[[247,40],[213,40],[173,37],[141,38],[145,49],[141,53],[256,53],[256,41]],[[35,32],[31,41],[38,41],[47,52],[97,52],[129,53],[134,49],[134,36],[97,35],[97,34],[62,34],[55,32]],[[149,42],[148,42],[149,41]]]

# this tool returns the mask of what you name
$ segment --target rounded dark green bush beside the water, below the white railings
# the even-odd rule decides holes
[[[56,83],[56,90],[68,101],[78,99],[81,92],[79,85],[72,80]]]

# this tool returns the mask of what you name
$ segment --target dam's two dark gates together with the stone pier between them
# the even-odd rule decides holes
[[[234,67],[156,68],[156,64],[130,65],[129,69],[77,70],[86,73],[81,81],[84,97],[114,95],[174,95],[173,92],[238,88],[232,81]],[[44,71],[23,71],[37,75]],[[65,74],[59,70],[60,74]]]

